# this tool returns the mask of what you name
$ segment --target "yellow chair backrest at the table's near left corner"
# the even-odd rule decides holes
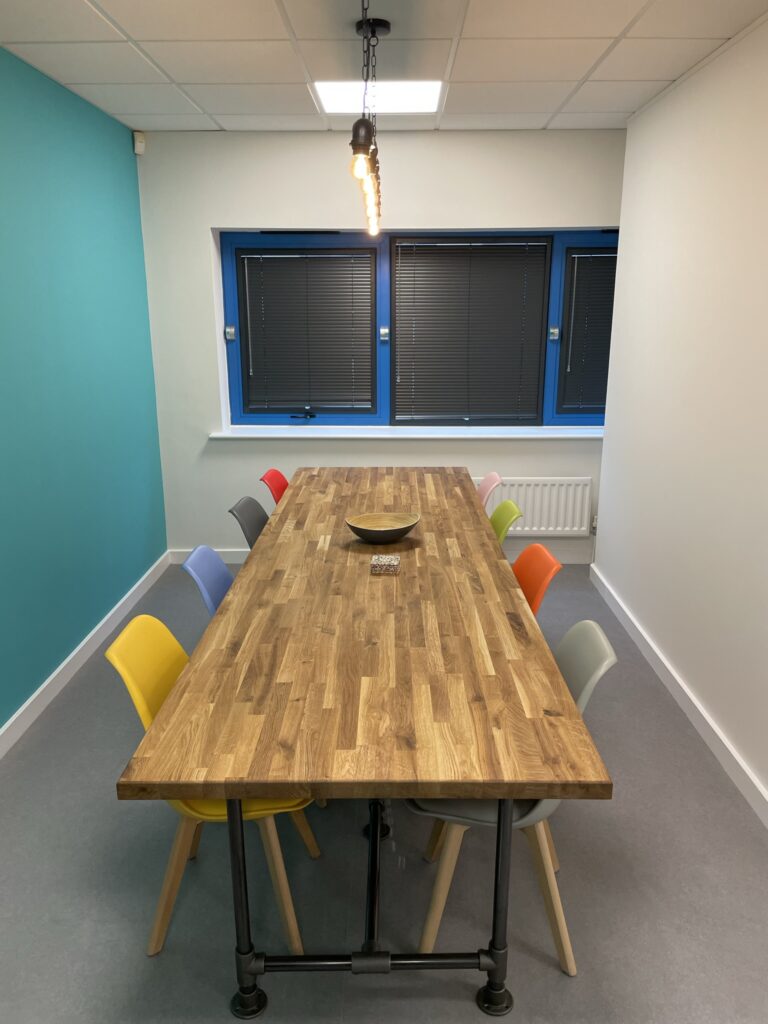
[[[148,729],[188,660],[184,648],[159,618],[136,615],[104,656],[120,673]]]

